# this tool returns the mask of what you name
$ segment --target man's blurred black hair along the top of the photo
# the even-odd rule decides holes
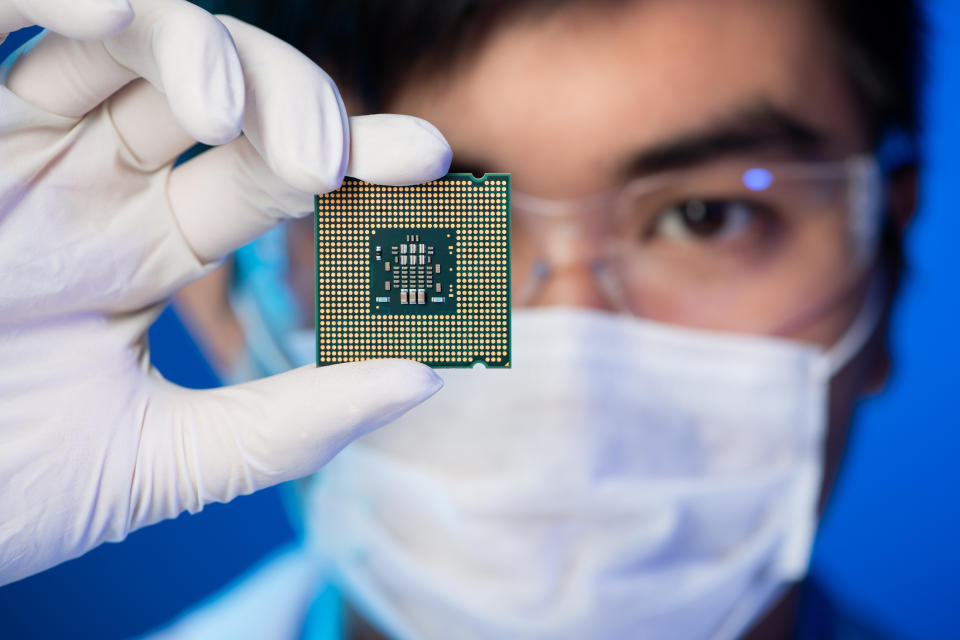
[[[291,43],[377,111],[411,70],[449,68],[496,21],[577,0],[197,1]],[[915,135],[924,35],[916,0],[815,1],[833,22],[870,134],[877,139],[896,128]]]

